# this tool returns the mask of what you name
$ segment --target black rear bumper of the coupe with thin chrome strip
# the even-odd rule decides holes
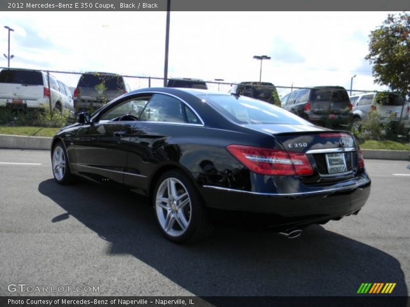
[[[371,180],[339,188],[301,193],[275,194],[213,186],[200,188],[207,206],[245,212],[277,214],[297,220],[334,218],[360,210],[370,194]]]

